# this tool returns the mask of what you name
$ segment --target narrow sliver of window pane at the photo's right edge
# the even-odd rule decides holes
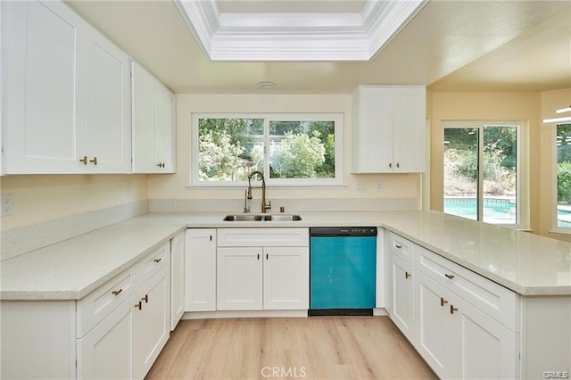
[[[557,227],[571,227],[571,124],[557,126]]]

